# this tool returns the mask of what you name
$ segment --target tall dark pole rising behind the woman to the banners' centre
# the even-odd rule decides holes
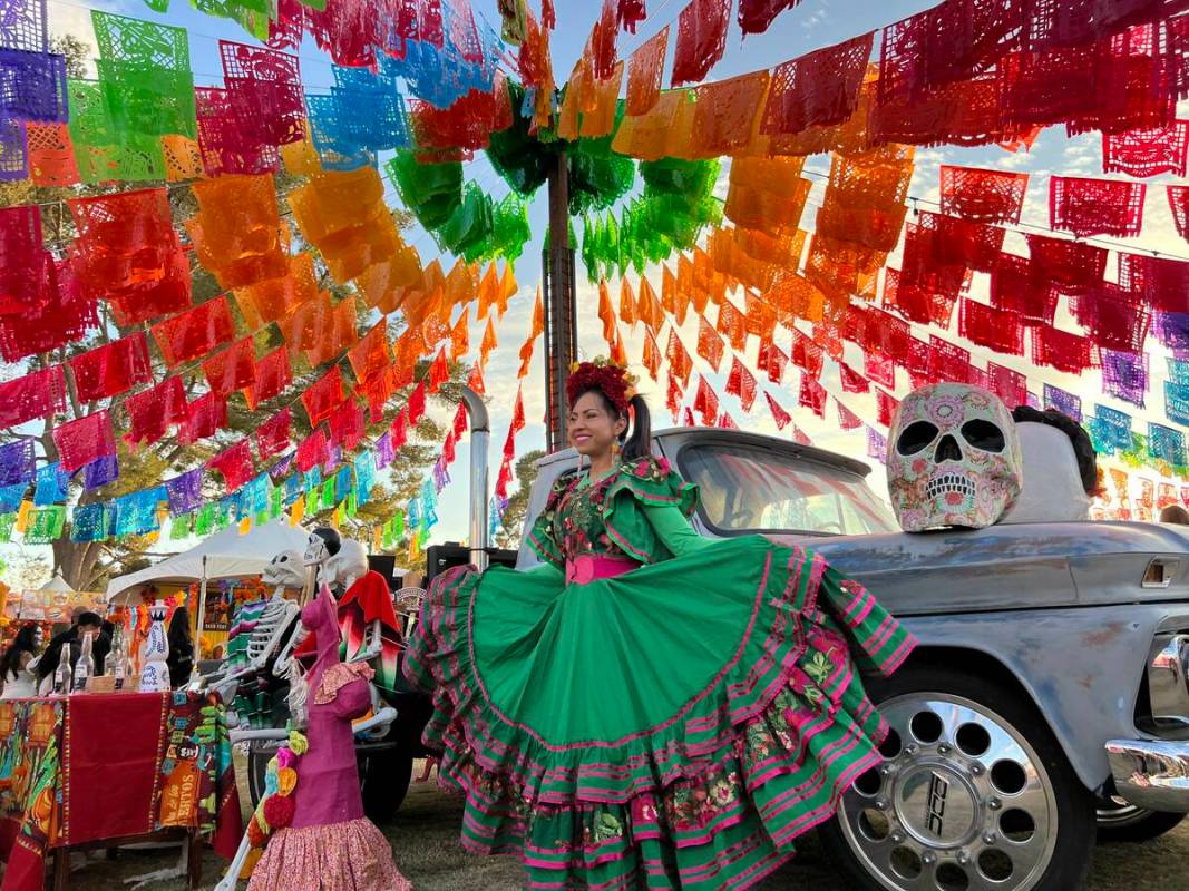
[[[545,381],[549,451],[566,448],[566,377],[578,354],[574,329],[574,249],[570,245],[570,168],[558,152],[549,171],[549,246],[545,251]]]

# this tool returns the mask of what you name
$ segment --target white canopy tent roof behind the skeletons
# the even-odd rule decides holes
[[[307,537],[306,530],[290,526],[287,519],[253,526],[247,535],[240,535],[237,526],[228,526],[188,551],[113,579],[107,583],[107,601],[138,602],[146,584],[258,575],[281,551],[303,552]]]

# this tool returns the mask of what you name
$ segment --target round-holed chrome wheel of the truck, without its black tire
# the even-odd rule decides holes
[[[843,797],[842,834],[889,891],[1027,891],[1057,839],[1044,764],[977,702],[912,693],[881,703],[885,762]]]

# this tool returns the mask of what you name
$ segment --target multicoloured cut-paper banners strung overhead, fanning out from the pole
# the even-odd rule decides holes
[[[510,264],[531,236],[527,202],[561,151],[570,213],[581,217],[571,238],[592,280],[622,279],[618,310],[610,286],[599,287],[604,335],[622,358],[618,322],[643,322],[642,362],[654,378],[668,362],[675,417],[734,424],[700,374],[692,410],[678,410],[692,388],[692,358],[677,328],[696,314],[696,354],[717,371],[729,343],[726,392],[744,410],[756,379],[779,385],[773,369],[782,373],[787,361],[803,371],[799,407],[819,416],[823,358],[838,365],[844,391],[874,391],[876,422],[866,424],[874,455],[886,448],[879,428],[894,409],[899,368],[913,384],[979,383],[1012,404],[1034,394],[1082,418],[1103,451],[1185,476],[1175,425],[1189,417],[1189,263],[1086,240],[1141,235],[1147,184],[1050,177],[1051,230],[1025,235],[1027,255],[1004,249],[1020,223],[1025,175],[943,166],[938,210],[911,219],[908,184],[918,145],[1015,151],[1062,125],[1069,135],[1101,135],[1105,173],[1183,176],[1189,122],[1176,120],[1176,103],[1189,97],[1189,15],[1181,14],[1189,1],[1128,0],[1105,11],[980,0],[975,15],[975,0],[946,0],[772,70],[705,81],[724,52],[731,0],[692,0],[672,48],[665,27],[628,58],[618,34],[647,20],[646,5],[604,0],[560,90],[549,0],[539,15],[521,0],[501,2],[499,33],[466,0],[320,8],[197,0],[263,44],[220,40],[218,87],[195,87],[184,29],[102,11],[92,17],[96,77],[70,77],[50,51],[45,0],[2,5],[0,64],[12,88],[0,95],[0,178],[151,188],[71,197],[70,239],[57,234],[61,207],[50,235],[44,208],[0,210],[0,358],[30,366],[0,384],[0,424],[19,432],[48,419],[56,453],[39,459],[27,436],[0,449],[0,537],[19,530],[26,541],[52,541],[67,535],[68,519],[76,541],[143,535],[159,527],[165,505],[175,529],[201,531],[220,516],[243,522],[298,500],[308,507],[315,489],[320,506],[328,494],[344,510],[352,497],[358,506],[449,362],[470,355],[472,304],[476,321],[486,321],[468,378],[482,390],[495,317],[518,290]],[[757,33],[793,6],[741,0],[736,19]],[[334,63],[329,88],[303,82],[296,52],[306,34]],[[479,151],[508,185],[504,197],[465,178]],[[452,264],[423,263],[398,232],[380,152],[394,153],[384,175]],[[830,158],[812,233],[801,228],[809,154]],[[732,160],[719,201],[723,157]],[[281,170],[301,182],[283,202]],[[171,208],[175,184],[193,192],[193,215]],[[1164,203],[1187,238],[1189,189],[1168,187]],[[901,245],[899,267],[888,266]],[[654,289],[643,273],[658,265]],[[195,287],[200,268],[216,293]],[[988,277],[986,298],[971,291],[975,274]],[[540,310],[539,301],[521,378]],[[793,337],[788,353],[774,342],[778,324]],[[753,336],[759,353],[749,364]],[[1150,340],[1172,356],[1163,393],[1172,425],[1146,430],[1107,405],[1083,413],[1074,394],[1048,381],[1030,388],[996,361],[970,361],[973,348],[1033,375],[1099,371],[1106,394],[1144,409]],[[844,362],[848,342],[863,350],[861,372]],[[787,425],[779,387],[765,396]],[[231,426],[229,399],[266,415],[237,442],[218,436]],[[514,405],[496,518],[524,425],[520,390]],[[843,426],[854,426],[858,416],[838,405]],[[459,417],[443,456],[465,429]],[[360,451],[369,429],[377,438]],[[216,454],[159,487],[115,500],[94,494],[117,481],[121,448],[170,435]],[[446,466],[435,478],[445,479]],[[203,495],[208,472],[226,494]],[[82,500],[68,514],[75,479]],[[417,529],[423,505],[416,523],[409,514]]]

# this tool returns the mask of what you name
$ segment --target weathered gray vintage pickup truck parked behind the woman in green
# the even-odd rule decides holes
[[[655,450],[702,488],[707,536],[797,539],[920,642],[869,683],[886,762],[823,840],[854,889],[1070,891],[1095,840],[1189,811],[1189,535],[1143,523],[899,531],[866,465],[768,436],[682,428]],[[543,459],[527,522],[573,451]],[[518,567],[535,557],[522,548]],[[693,595],[693,593],[690,593]]]

